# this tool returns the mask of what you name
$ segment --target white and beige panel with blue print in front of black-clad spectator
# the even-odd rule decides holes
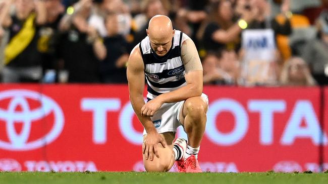
[[[277,85],[280,54],[271,29],[245,30],[242,34],[241,85]]]

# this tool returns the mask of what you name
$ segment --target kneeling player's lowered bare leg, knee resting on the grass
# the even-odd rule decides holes
[[[150,158],[146,159],[145,154],[142,155],[143,164],[147,172],[166,172],[171,169],[175,162],[174,153],[173,153],[173,141],[175,138],[174,132],[165,132],[160,134],[167,142],[167,147],[163,148],[163,146],[158,143],[157,150],[159,154],[159,158],[154,156],[151,161]],[[145,136],[143,136],[145,138]]]

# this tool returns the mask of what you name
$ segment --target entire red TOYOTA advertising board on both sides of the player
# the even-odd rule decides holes
[[[205,86],[204,93],[204,171],[320,170],[328,133],[320,88]],[[0,85],[0,170],[142,171],[142,130],[127,85]]]

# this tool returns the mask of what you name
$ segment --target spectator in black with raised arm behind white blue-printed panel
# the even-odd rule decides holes
[[[289,10],[287,1],[282,7],[284,12]],[[265,0],[250,0],[247,6],[256,16],[242,33],[241,84],[277,85],[283,60],[277,49],[276,35],[291,34],[290,21],[286,19],[280,24],[270,18],[270,5]]]

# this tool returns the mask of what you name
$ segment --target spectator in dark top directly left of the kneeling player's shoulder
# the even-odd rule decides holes
[[[129,59],[129,46],[119,34],[119,15],[110,14],[106,17],[107,37],[103,44],[106,57],[100,63],[101,79],[105,83],[127,83],[126,63]]]

